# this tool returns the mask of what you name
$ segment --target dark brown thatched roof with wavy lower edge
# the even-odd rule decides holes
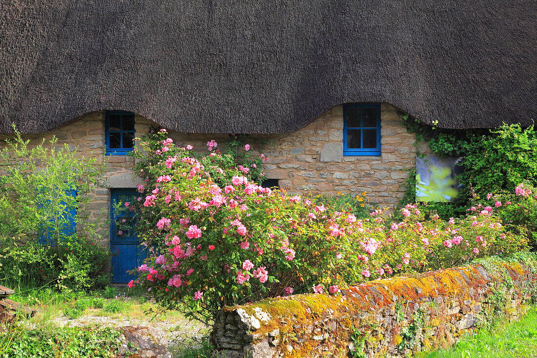
[[[530,124],[536,18],[529,0],[8,1],[0,132],[118,109],[183,132],[281,133],[349,102],[440,127]]]

